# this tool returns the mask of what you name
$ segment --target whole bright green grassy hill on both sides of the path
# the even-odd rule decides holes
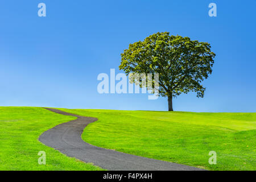
[[[82,139],[95,146],[210,170],[256,170],[256,113],[60,109],[96,117]],[[0,107],[0,170],[98,170],[38,141],[74,119],[40,107]],[[46,165],[38,152],[46,151]],[[208,163],[209,151],[217,164]]]

